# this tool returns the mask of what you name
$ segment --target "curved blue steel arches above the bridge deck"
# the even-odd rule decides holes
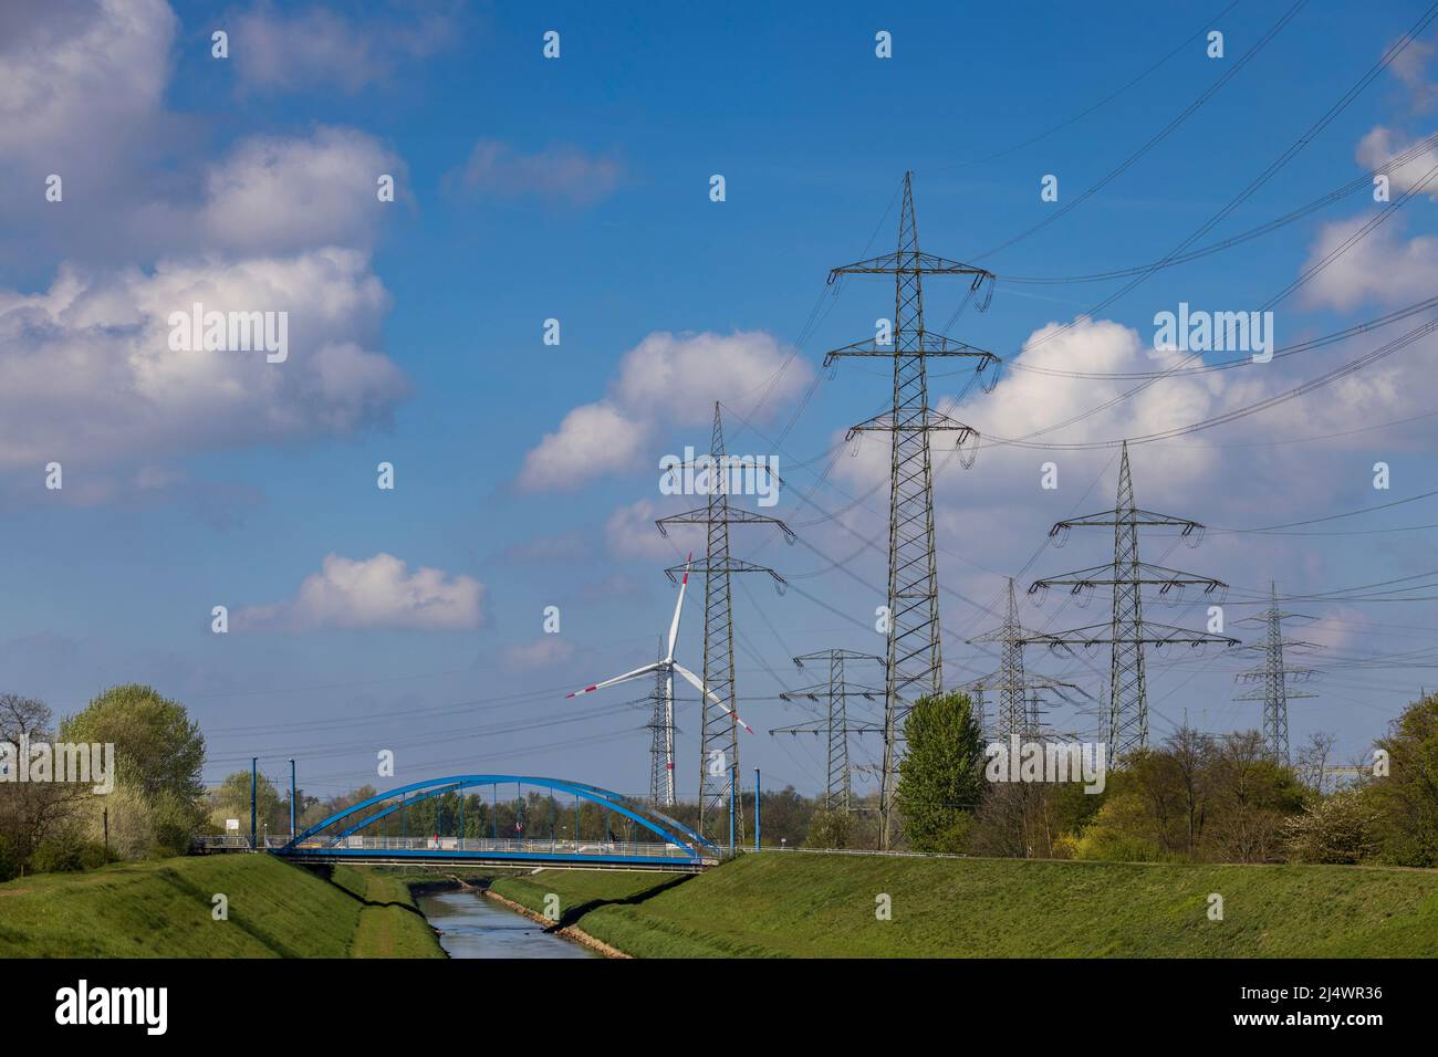
[[[707,840],[700,837],[697,833],[690,830],[687,825],[676,818],[646,805],[634,800],[623,797],[610,790],[600,788],[598,785],[585,785],[584,782],[574,782],[565,778],[542,778],[533,775],[502,775],[502,774],[463,774],[463,775],[449,775],[444,778],[430,778],[423,782],[413,782],[410,785],[400,785],[394,790],[387,790],[385,792],[377,792],[367,800],[360,801],[347,807],[344,811],[336,811],[335,814],[324,818],[313,825],[311,825],[303,833],[296,834],[285,847],[285,851],[298,851],[306,841],[312,841],[321,837],[325,830],[332,825],[344,824],[339,833],[322,840],[329,841],[329,847],[335,847],[345,837],[372,825],[391,815],[394,811],[401,810],[408,804],[414,804],[421,800],[429,800],[431,797],[440,797],[446,792],[463,792],[464,790],[479,788],[479,787],[499,787],[499,785],[528,785],[532,788],[546,788],[551,792],[567,792],[580,800],[597,804],[608,811],[623,815],[637,825],[653,833],[660,840],[667,844],[674,844],[684,848],[695,861],[706,856],[719,856],[718,847],[710,844]],[[413,795],[411,795],[413,794]],[[381,811],[372,814],[361,814],[377,804],[384,804],[385,801],[400,798],[398,802],[391,804]]]

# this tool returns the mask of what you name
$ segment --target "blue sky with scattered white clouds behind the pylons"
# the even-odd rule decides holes
[[[739,693],[752,699],[742,713],[759,731],[742,742],[742,762],[762,765],[769,784],[817,790],[817,739],[766,731],[810,718],[774,700],[812,682],[789,656],[881,653],[866,628],[883,601],[883,552],[860,539],[881,546],[887,459],[874,443],[834,456],[850,423],[881,410],[889,383],[848,364],[805,393],[823,352],[871,337],[893,296],[879,280],[825,293],[828,269],[892,249],[905,170],[926,250],[971,260],[1044,220],[1209,88],[1286,7],[1238,3],[1215,22],[1218,0],[1102,14],[1048,4],[14,6],[0,16],[3,689],[65,713],[108,685],[152,683],[201,719],[211,779],[253,754],[279,775],[295,755],[308,790],[334,792],[378,781],[375,752],[393,748],[401,779],[469,767],[643,792],[646,708],[624,702],[644,687],[581,703],[564,693],[651,657],[673,605],[661,569],[693,542],[646,528],[682,509],[659,495],[659,459],[686,444],[703,452],[720,400],[731,450],[778,456],[789,488],[771,512],[804,541],[736,535],[741,557],[797,588],[782,598],[756,581],[735,588]],[[1132,168],[982,257],[999,275],[992,306],[963,312],[951,335],[1011,357],[1044,326],[1073,322],[1117,285],[1004,276],[1163,256],[1422,12],[1306,4]],[[1205,55],[1209,27],[1224,33],[1222,59]],[[217,29],[230,35],[227,59],[211,58]],[[541,55],[546,30],[561,35],[557,60]],[[879,30],[893,36],[892,59],[874,55]],[[1175,49],[1083,119],[991,158]],[[1428,30],[1201,243],[1284,214],[1362,177],[1376,167],[1369,157],[1429,135],[1431,49]],[[56,173],[65,196],[49,203],[45,178]],[[397,201],[377,200],[380,173],[395,175]],[[709,198],[712,174],[725,177],[723,203]],[[1040,198],[1045,174],[1058,177],[1057,204]],[[1342,224],[1378,209],[1360,191],[1158,272],[1021,361],[1155,370],[1155,312],[1181,301],[1257,308]],[[1281,303],[1278,344],[1429,296],[1431,224],[1432,201],[1418,196]],[[292,360],[167,360],[175,354],[155,334],[196,292],[224,308],[288,309]],[[955,280],[926,286],[930,328],[962,292]],[[805,329],[815,305],[818,324]],[[546,318],[561,321],[558,347],[541,341]],[[1060,437],[1090,443],[1198,421],[1378,344],[1165,380]],[[1369,429],[1428,410],[1432,352],[1419,342],[1271,411],[1136,447],[1140,505],[1252,528],[1438,488],[1431,420]],[[942,370],[935,403],[965,381]],[[1015,437],[1126,388],[1008,371],[955,414],[985,436]],[[598,411],[575,418],[575,408]],[[1306,440],[1330,433],[1346,436]],[[52,459],[63,465],[59,492],[45,489]],[[1054,492],[1040,489],[1048,459]],[[1386,492],[1372,486],[1378,460],[1392,469]],[[375,488],[380,462],[395,466],[393,492]],[[1053,521],[1112,505],[1114,473],[1110,449],[1004,444],[986,446],[972,470],[940,472],[949,682],[997,664],[992,647],[963,639],[997,623],[985,610],[1004,577],[1024,569],[1027,584],[1106,558],[1102,534],[1076,535],[1024,568]],[[1428,521],[1438,521],[1431,500],[1314,528]],[[1257,608],[1248,603],[1270,580],[1309,595],[1438,568],[1431,532],[1418,531],[1212,532],[1165,558],[1171,542],[1155,538],[1145,557],[1232,584],[1231,620]],[[421,568],[439,572],[424,580]],[[234,627],[217,636],[210,611],[221,604]],[[541,630],[546,605],[561,607],[558,636]],[[1100,620],[1106,607],[1025,603],[1022,616],[1060,628]],[[1293,741],[1332,731],[1346,756],[1359,754],[1428,682],[1431,654],[1353,664],[1426,650],[1432,604],[1342,595],[1288,608],[1323,618],[1293,633],[1324,644],[1311,663],[1332,669],[1307,687],[1319,697],[1294,702]],[[1201,616],[1181,607],[1159,618],[1196,627]],[[695,604],[679,656],[697,669],[700,651]],[[1030,654],[1031,667],[1102,693],[1106,656]],[[1206,729],[1257,725],[1255,705],[1231,700],[1238,662],[1152,664],[1155,736],[1185,712]],[[1054,722],[1091,725],[1064,710]],[[679,785],[692,794],[693,703],[680,726]],[[877,748],[856,746],[856,756]]]

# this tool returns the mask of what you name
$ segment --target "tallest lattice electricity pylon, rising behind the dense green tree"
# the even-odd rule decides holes
[[[844,275],[892,275],[894,278],[894,318],[890,334],[876,334],[831,351],[828,367],[846,357],[887,357],[893,360],[893,406],[848,430],[848,440],[860,433],[890,434],[889,465],[889,597],[887,656],[884,659],[884,759],[879,782],[879,847],[889,848],[893,797],[899,772],[899,738],[907,703],[926,693],[942,693],[943,659],[939,651],[939,590],[933,557],[933,462],[929,434],[955,434],[962,450],[978,431],[929,407],[929,383],[925,362],[930,357],[974,357],[976,370],[998,365],[992,352],[951,341],[923,328],[923,276],[972,276],[978,290],[994,273],[974,265],[919,252],[919,232],[913,214],[913,174],[903,177],[903,210],[899,217],[899,249],[869,260],[835,267],[833,283]],[[989,288],[992,295],[992,286]],[[988,308],[988,299],[979,305]],[[889,338],[884,341],[883,338]],[[998,371],[985,385],[991,390]],[[975,449],[976,452],[976,449]],[[963,466],[972,465],[959,457]]]

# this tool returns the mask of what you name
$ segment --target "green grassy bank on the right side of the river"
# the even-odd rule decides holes
[[[677,884],[548,871],[493,887],[536,910],[554,892],[567,925],[638,958],[1438,956],[1432,870],[792,851]],[[1221,922],[1209,893],[1224,897]],[[892,920],[876,918],[879,894]]]

